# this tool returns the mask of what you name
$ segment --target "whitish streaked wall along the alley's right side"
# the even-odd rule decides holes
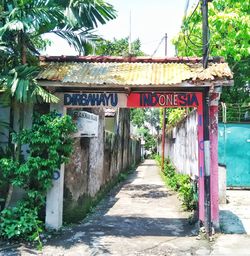
[[[198,176],[197,112],[192,111],[166,134],[165,156],[180,173]],[[161,145],[159,147],[161,153]]]

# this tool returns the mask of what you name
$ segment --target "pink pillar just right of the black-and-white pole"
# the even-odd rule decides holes
[[[219,227],[219,180],[218,180],[218,101],[219,93],[210,94],[210,191],[211,191],[211,220]]]

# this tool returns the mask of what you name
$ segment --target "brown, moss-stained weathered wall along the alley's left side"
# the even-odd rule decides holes
[[[65,167],[64,221],[78,221],[91,199],[112,183],[119,172],[140,161],[140,143],[130,138],[129,110],[120,109],[115,118],[116,133],[105,132],[103,110],[97,138],[75,138],[74,153]]]

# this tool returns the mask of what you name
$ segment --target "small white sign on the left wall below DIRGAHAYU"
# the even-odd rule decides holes
[[[97,137],[99,116],[87,111],[73,111],[73,120],[76,122],[77,133],[74,137]]]

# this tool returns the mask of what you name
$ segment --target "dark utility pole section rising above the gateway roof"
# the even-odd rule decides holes
[[[207,0],[202,0],[202,64],[203,68],[208,65],[208,49],[209,49],[209,31],[208,31],[208,4]]]

